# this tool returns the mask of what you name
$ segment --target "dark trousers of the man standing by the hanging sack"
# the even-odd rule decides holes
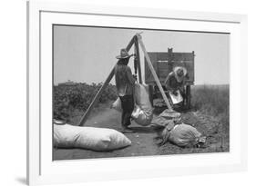
[[[128,125],[130,125],[130,117],[134,109],[133,95],[119,96],[119,98],[121,100],[121,106],[123,110],[122,126],[127,127]]]

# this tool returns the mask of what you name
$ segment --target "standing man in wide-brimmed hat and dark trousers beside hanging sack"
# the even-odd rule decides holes
[[[120,54],[117,56],[118,64],[115,67],[116,86],[122,106],[121,125],[123,132],[132,132],[128,128],[128,125],[130,125],[131,113],[134,109],[133,93],[136,81],[128,66],[128,60],[132,55],[134,54],[129,55],[126,49],[121,49]]]

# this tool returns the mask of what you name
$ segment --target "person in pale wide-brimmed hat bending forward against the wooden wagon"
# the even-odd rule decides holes
[[[180,94],[184,96],[185,80],[188,79],[188,77],[189,75],[185,67],[176,66],[173,68],[173,71],[168,74],[165,80],[166,88],[174,95],[177,95],[177,91],[179,90]]]

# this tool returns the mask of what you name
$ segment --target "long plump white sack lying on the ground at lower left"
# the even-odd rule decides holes
[[[130,144],[123,133],[113,129],[54,124],[55,147],[110,151]]]

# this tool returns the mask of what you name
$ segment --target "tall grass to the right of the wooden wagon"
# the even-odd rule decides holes
[[[228,152],[230,148],[230,86],[228,84],[194,86],[191,103],[200,115],[208,118],[205,119],[206,121],[211,120],[216,123],[216,126],[208,131],[212,140],[220,142],[221,149],[216,151]]]

